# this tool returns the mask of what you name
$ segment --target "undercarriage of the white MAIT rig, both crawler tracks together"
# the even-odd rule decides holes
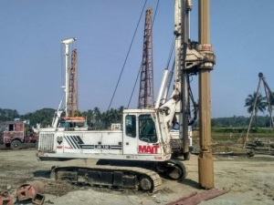
[[[132,189],[155,192],[165,179],[183,180],[186,170],[182,162],[170,159],[163,162],[98,160],[96,166],[53,167],[51,179],[68,180],[116,189]]]

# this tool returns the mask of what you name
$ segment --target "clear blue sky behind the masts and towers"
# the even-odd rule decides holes
[[[79,109],[111,102],[144,0],[0,1],[0,108],[20,114],[57,108],[64,85],[62,39],[77,37]],[[146,8],[157,1],[148,0]],[[191,39],[197,38],[197,0]],[[258,87],[258,73],[274,87],[274,2],[211,0],[210,38],[216,54],[211,72],[212,117],[248,116],[245,98]],[[142,61],[144,16],[111,108],[127,106]],[[158,93],[174,38],[174,1],[160,0],[153,25],[154,95]],[[192,83],[197,99],[197,77]],[[136,108],[138,87],[131,108]],[[274,88],[272,88],[274,90]],[[264,95],[264,90],[261,88]]]

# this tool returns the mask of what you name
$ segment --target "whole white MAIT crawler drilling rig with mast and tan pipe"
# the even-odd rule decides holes
[[[42,129],[39,133],[37,153],[39,159],[99,159],[97,165],[93,167],[55,167],[51,172],[52,178],[107,187],[155,191],[162,183],[160,176],[176,180],[186,177],[184,164],[172,159],[169,131],[173,127],[175,115],[179,114],[181,129],[184,131],[186,127],[187,132],[188,109],[186,109],[185,93],[188,90],[189,73],[198,73],[200,76],[200,124],[204,126],[207,123],[205,127],[200,128],[202,137],[209,129],[210,118],[208,115],[204,118],[204,113],[208,114],[208,110],[207,105],[204,106],[203,103],[209,97],[206,90],[209,89],[209,82],[205,75],[208,75],[213,68],[215,56],[212,46],[206,42],[207,39],[202,38],[200,43],[188,41],[183,26],[187,25],[186,15],[191,8],[191,1],[174,2],[175,19],[177,19],[174,32],[177,38],[175,61],[177,70],[174,91],[170,99],[160,103],[168,74],[168,70],[164,69],[154,108],[123,110],[121,130],[89,130],[84,126],[84,120],[81,118],[61,118],[61,121],[55,121],[53,128]],[[200,9],[203,2],[207,1],[199,2]],[[58,112],[58,118],[60,113]],[[187,123],[183,124],[183,122]],[[205,172],[205,169],[213,171],[213,166],[210,167],[213,162],[212,158],[210,159],[210,149],[206,140],[206,138],[200,139],[202,151],[198,161],[202,170],[199,169],[199,174]],[[187,155],[188,148],[185,141],[183,147]],[[199,177],[202,181],[201,185],[205,188],[212,185],[212,181],[206,181],[205,175]],[[209,176],[209,179],[211,178],[212,176]]]

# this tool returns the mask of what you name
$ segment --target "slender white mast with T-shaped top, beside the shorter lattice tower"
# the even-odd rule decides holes
[[[72,43],[73,41],[76,41],[76,38],[68,38],[65,40],[62,40],[61,43],[65,45],[65,97],[66,97],[66,108],[65,108],[65,113],[66,116],[68,116],[68,87],[69,87],[69,67],[68,67],[68,52],[69,48],[68,45]]]

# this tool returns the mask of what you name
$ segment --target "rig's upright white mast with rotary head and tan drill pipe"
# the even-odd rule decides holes
[[[199,42],[189,41],[189,11],[191,0],[174,0],[175,28],[175,89],[181,93],[179,115],[180,138],[183,138],[184,159],[188,159],[189,80],[199,76],[199,183],[205,189],[214,188],[214,168],[211,150],[210,71],[216,62],[209,39],[209,0],[199,0]],[[178,117],[177,117],[178,118]],[[183,135],[183,136],[182,136]]]

